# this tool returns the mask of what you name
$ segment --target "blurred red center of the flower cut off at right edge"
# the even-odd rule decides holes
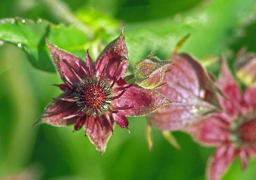
[[[238,132],[243,141],[256,143],[256,119],[243,123],[238,129]]]

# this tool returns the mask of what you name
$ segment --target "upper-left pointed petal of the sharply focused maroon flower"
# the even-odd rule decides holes
[[[50,49],[53,64],[55,65],[58,74],[64,82],[68,81],[69,79],[72,84],[79,83],[79,79],[75,73],[77,73],[80,78],[88,76],[88,74],[85,74],[85,72],[82,71],[81,66],[85,68],[86,65],[85,62],[83,62],[80,58],[51,44],[47,38],[46,43]],[[67,76],[68,79],[65,77],[65,75],[63,75],[63,73]]]

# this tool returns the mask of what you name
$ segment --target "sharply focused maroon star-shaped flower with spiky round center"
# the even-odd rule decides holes
[[[174,102],[151,89],[126,83],[124,75],[128,52],[123,31],[106,46],[95,65],[88,52],[84,62],[52,45],[47,39],[46,42],[53,64],[64,81],[64,84],[57,86],[64,93],[46,107],[36,124],[75,124],[75,131],[85,126],[85,135],[104,153],[106,143],[114,132],[114,123],[128,129],[126,115],[148,114]]]

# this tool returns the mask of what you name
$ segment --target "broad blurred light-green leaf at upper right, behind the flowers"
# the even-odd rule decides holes
[[[236,31],[255,18],[255,0],[217,0],[183,15],[125,27],[130,62],[135,64],[152,51],[167,59],[181,37],[191,34],[182,48],[198,58],[220,54],[239,35]]]

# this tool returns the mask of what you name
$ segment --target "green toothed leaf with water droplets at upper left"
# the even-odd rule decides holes
[[[54,72],[55,68],[44,37],[61,49],[84,58],[88,37],[72,25],[68,27],[63,24],[54,25],[42,19],[36,22],[18,18],[0,20],[0,40],[10,42],[24,50],[36,68]]]

